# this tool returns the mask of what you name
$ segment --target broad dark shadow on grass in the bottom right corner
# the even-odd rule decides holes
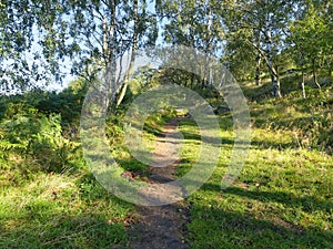
[[[332,248],[332,232],[306,230],[280,217],[259,219],[198,204],[191,214],[191,248]]]

